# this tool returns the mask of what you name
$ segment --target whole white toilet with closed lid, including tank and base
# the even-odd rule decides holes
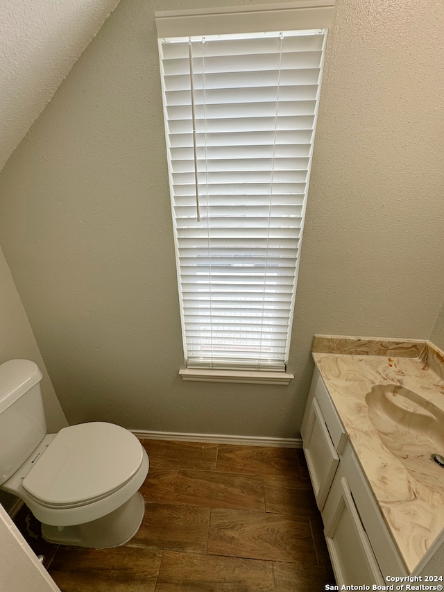
[[[0,489],[25,502],[50,543],[123,545],[144,516],[145,449],[101,421],[46,434],[40,380],[30,360],[0,364]]]

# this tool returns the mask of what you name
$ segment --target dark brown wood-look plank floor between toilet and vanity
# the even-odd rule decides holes
[[[302,450],[144,440],[146,511],[125,546],[42,541],[17,525],[62,592],[316,592],[334,584]]]

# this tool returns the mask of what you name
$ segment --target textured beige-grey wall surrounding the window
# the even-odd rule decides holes
[[[338,0],[289,362],[295,380],[178,378],[153,13],[216,4],[121,0],[0,174],[0,242],[70,423],[296,437],[314,333],[432,334],[444,294],[444,9]]]

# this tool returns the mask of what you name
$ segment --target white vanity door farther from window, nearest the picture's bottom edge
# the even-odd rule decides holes
[[[339,473],[325,504],[323,518],[336,583],[340,586],[384,584],[348,481]]]

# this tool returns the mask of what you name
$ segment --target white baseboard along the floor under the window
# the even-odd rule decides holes
[[[137,438],[151,440],[176,440],[179,442],[207,442],[238,446],[276,446],[278,448],[302,448],[300,438],[266,438],[255,436],[230,436],[224,434],[184,434],[182,432],[150,432],[131,430]]]

